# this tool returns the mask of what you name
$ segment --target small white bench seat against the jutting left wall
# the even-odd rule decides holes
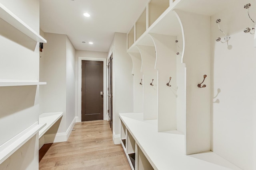
[[[39,131],[39,139],[62,117],[63,112],[54,112],[54,113],[43,113],[39,116],[39,124],[46,124],[44,128]]]

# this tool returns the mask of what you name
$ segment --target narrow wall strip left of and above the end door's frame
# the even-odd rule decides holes
[[[75,113],[77,122],[78,120],[78,57],[87,57],[87,58],[103,58],[106,59],[108,57],[108,53],[106,52],[99,52],[99,51],[83,51],[83,50],[76,50],[76,57],[75,57]]]

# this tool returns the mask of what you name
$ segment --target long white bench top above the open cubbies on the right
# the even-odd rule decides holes
[[[185,155],[184,135],[157,132],[157,120],[143,121],[143,113],[121,113],[119,117],[155,170],[241,170],[211,151]]]

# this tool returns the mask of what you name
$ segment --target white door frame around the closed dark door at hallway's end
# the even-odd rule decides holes
[[[82,121],[82,60],[88,61],[103,61],[103,120],[106,120],[106,96],[107,84],[106,84],[106,59],[104,58],[90,58],[90,57],[78,57],[78,122]]]

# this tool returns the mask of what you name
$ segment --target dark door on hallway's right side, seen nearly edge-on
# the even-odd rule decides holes
[[[112,55],[108,60],[108,122],[113,131],[113,99],[112,99]]]

